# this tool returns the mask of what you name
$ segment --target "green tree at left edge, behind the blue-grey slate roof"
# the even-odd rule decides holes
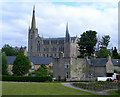
[[[13,50],[13,48],[8,45],[8,44],[5,44],[2,48],[2,52],[5,52],[5,54],[7,56],[14,56],[15,55],[15,51]]]

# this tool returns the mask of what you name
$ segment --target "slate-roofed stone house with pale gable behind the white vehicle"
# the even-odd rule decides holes
[[[114,69],[120,71],[120,59],[96,58],[87,59],[88,72],[87,77],[112,76]]]

